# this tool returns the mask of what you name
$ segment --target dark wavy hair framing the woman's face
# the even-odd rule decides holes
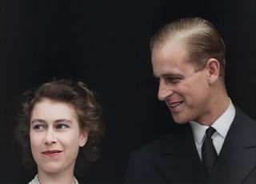
[[[75,163],[75,174],[82,174],[90,164],[99,159],[99,146],[103,136],[102,110],[95,100],[94,93],[82,82],[71,80],[54,80],[40,85],[22,95],[22,111],[18,114],[18,126],[15,130],[16,139],[22,152],[22,162],[31,175],[37,173],[30,148],[30,115],[34,104],[43,99],[70,103],[78,114],[81,128],[89,131],[84,147],[80,147]]]

